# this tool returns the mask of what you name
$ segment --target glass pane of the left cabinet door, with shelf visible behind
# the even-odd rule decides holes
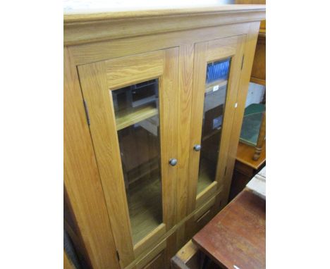
[[[111,93],[136,244],[162,223],[158,80]]]

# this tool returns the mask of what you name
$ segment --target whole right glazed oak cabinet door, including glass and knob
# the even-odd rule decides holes
[[[245,35],[195,44],[188,211],[221,192]]]

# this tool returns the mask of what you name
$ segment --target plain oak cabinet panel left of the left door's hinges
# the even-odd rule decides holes
[[[119,268],[75,65],[64,49],[64,184],[92,268]]]

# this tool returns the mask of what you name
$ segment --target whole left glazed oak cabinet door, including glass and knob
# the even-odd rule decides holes
[[[122,268],[176,218],[178,49],[79,65]]]

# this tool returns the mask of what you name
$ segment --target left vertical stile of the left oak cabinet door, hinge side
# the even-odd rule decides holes
[[[90,115],[90,133],[102,181],[104,198],[121,267],[134,260],[132,232],[119,151],[114,104],[109,98],[106,63],[80,65],[80,85]],[[116,199],[111,199],[116,197]]]

